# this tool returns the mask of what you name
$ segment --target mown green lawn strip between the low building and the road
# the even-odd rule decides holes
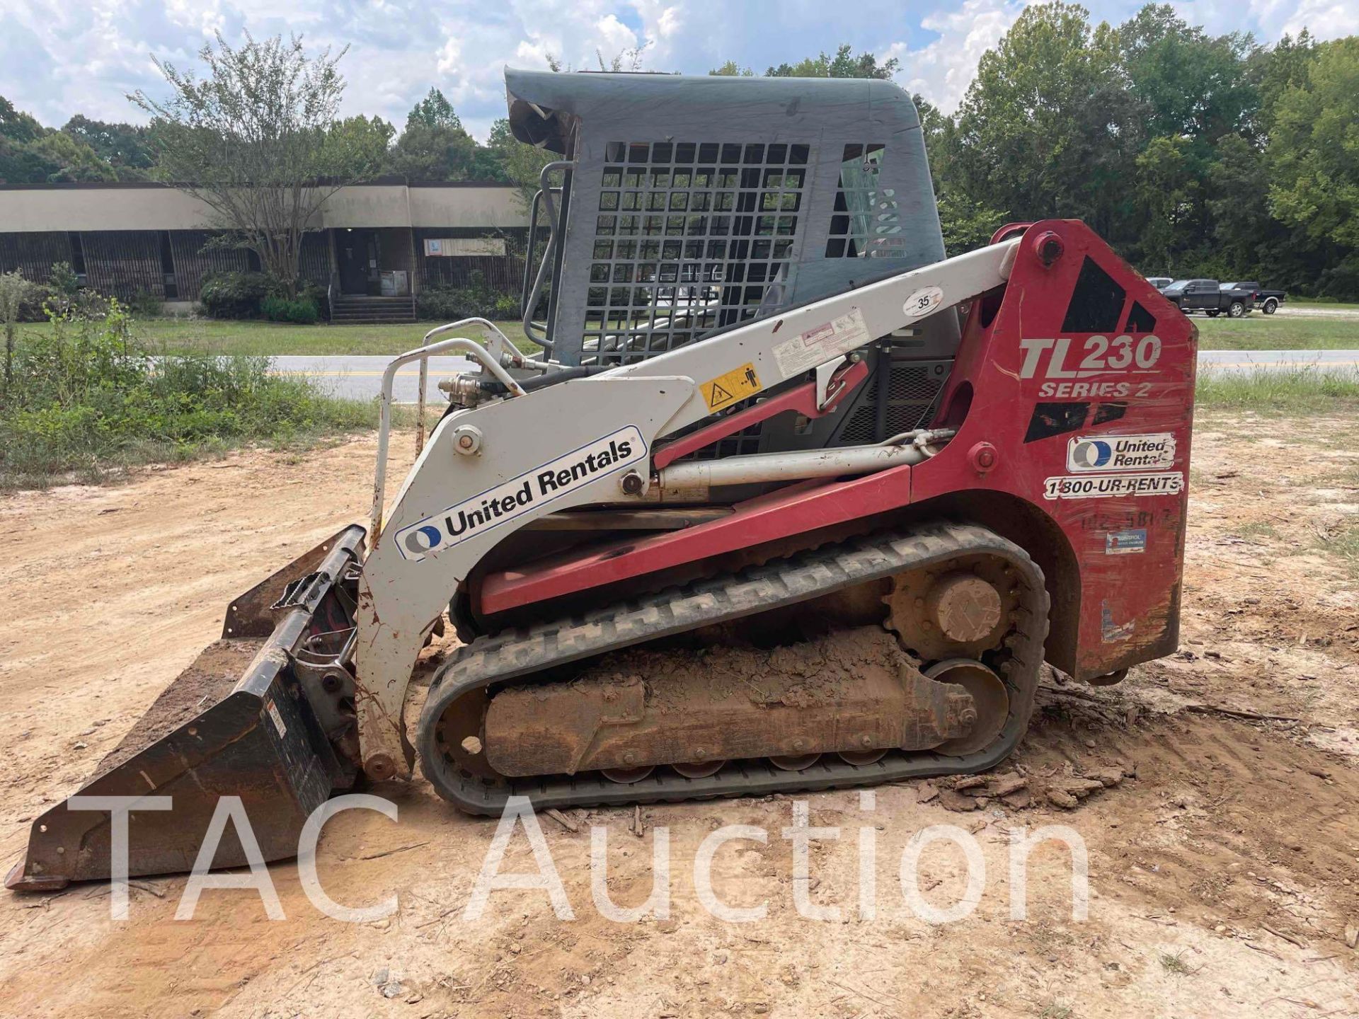
[[[136,325],[137,334],[152,349],[166,353],[241,355],[398,355],[420,346],[424,334],[442,322],[406,322],[385,326],[294,326],[280,322],[232,322],[189,318],[151,318]],[[530,344],[518,322],[497,322],[500,330],[520,351],[541,351]],[[22,330],[49,330],[46,323],[24,325]],[[476,338],[480,330],[469,329]]]

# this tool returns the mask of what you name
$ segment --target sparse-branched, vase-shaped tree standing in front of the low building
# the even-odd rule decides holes
[[[390,125],[338,120],[345,50],[308,56],[300,37],[241,48],[219,33],[198,57],[207,75],[156,60],[166,101],[129,96],[152,115],[159,174],[201,198],[235,243],[254,250],[288,296],[298,289],[302,239],[340,187],[375,175]],[[385,130],[386,129],[386,130]]]

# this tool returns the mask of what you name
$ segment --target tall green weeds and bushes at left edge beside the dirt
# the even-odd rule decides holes
[[[185,459],[243,442],[307,439],[374,424],[370,404],[273,375],[268,357],[156,356],[121,304],[24,330],[0,401],[0,485]]]

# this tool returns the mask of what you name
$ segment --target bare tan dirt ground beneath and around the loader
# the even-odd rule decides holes
[[[0,501],[5,867],[35,812],[213,640],[227,599],[363,519],[372,451],[359,440],[300,459],[245,452]],[[669,829],[669,918],[603,918],[587,827],[544,818],[575,918],[554,917],[542,890],[508,890],[467,920],[495,825],[417,779],[374,789],[400,823],[349,811],[321,842],[328,893],[351,906],[395,894],[389,918],[322,916],[291,863],[270,868],[283,921],[239,889],[205,891],[196,918],[177,921],[183,878],[139,882],[121,923],[102,884],[0,893],[0,1014],[1359,1015],[1359,951],[1345,944],[1359,924],[1359,567],[1344,554],[1356,523],[1359,421],[1201,417],[1182,649],[1114,687],[1046,677],[1004,769],[1029,781],[1019,793],[915,783],[868,803],[811,795],[811,823],[844,830],[813,842],[806,889],[839,920],[798,914],[786,798],[644,807],[641,838],[632,810],[576,818],[606,829],[606,890],[621,906],[647,898],[655,830]],[[1075,789],[1075,808],[1051,788]],[[694,890],[699,844],[734,823],[769,833],[713,861],[726,902],[766,902],[752,923],[715,918]],[[961,825],[981,848],[980,904],[958,923],[927,923],[902,897],[902,848],[931,825]],[[1052,842],[1030,857],[1027,918],[1011,918],[1019,825],[1080,836],[1084,920],[1072,920],[1070,856]],[[877,844],[871,918],[856,909],[860,829]],[[522,830],[503,870],[535,870]],[[946,909],[965,875],[957,846],[932,845],[919,889]]]

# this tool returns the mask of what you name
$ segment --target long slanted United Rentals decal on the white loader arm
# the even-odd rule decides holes
[[[432,552],[442,552],[466,538],[485,534],[632,463],[644,463],[646,459],[647,443],[637,427],[620,428],[550,463],[450,505],[442,514],[402,527],[397,531],[397,548],[402,558],[419,562]]]

